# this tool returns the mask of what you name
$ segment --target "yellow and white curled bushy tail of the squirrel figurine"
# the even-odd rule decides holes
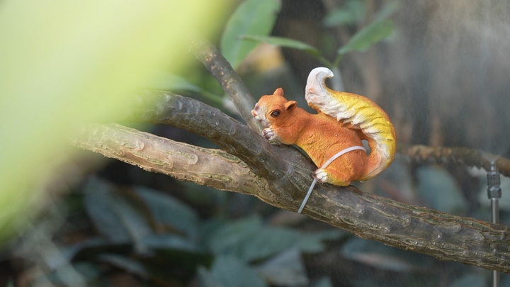
[[[329,89],[324,80],[331,77],[333,72],[328,68],[312,69],[305,94],[308,106],[336,118],[347,128],[361,130],[361,137],[368,141],[371,152],[364,176],[359,180],[371,179],[389,167],[395,157],[395,128],[382,108],[370,99]]]

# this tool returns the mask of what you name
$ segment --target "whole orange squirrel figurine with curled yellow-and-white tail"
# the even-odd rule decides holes
[[[361,140],[367,140],[370,155],[352,150],[314,171],[313,177],[319,183],[337,186],[372,179],[395,157],[395,128],[370,99],[327,88],[327,77],[333,77],[333,72],[319,67],[307,79],[305,99],[318,114],[307,113],[295,101],[287,101],[281,88],[273,95],[262,96],[251,113],[265,128],[263,137],[301,147],[318,167],[341,150],[362,146]]]

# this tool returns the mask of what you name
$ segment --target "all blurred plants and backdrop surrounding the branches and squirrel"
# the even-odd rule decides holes
[[[68,147],[67,136],[79,123],[120,122],[134,89],[174,91],[239,118],[187,52],[188,35],[201,33],[257,99],[282,86],[305,108],[308,72],[327,66],[329,86],[387,111],[399,145],[509,157],[506,1],[28,2],[0,2],[0,286],[487,286],[490,271],[105,160]],[[169,126],[137,128],[215,147]],[[397,155],[356,185],[489,221],[485,184],[484,171]],[[509,187],[503,177],[505,224]]]

